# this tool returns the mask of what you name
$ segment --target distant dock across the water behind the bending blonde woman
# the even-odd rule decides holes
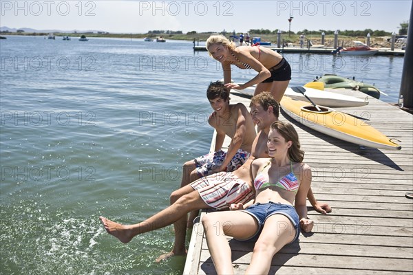
[[[324,48],[324,47],[273,47],[273,46],[262,46],[268,47],[268,49],[277,51],[279,53],[287,53],[287,54],[299,54],[299,53],[310,53],[310,54],[332,54],[331,52],[335,50],[335,48]],[[207,48],[205,46],[194,46],[194,52],[206,52]],[[383,48],[380,49],[376,56],[404,56],[405,50],[394,49],[390,50],[390,48]]]

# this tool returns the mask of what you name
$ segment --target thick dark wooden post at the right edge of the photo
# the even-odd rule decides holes
[[[410,22],[413,22],[413,3],[410,10]],[[407,109],[413,109],[413,28],[407,31],[407,45],[404,57],[403,72],[401,73],[400,96]]]

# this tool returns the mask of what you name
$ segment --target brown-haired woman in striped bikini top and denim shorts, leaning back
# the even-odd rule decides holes
[[[306,195],[311,170],[302,163],[297,131],[290,123],[274,122],[268,133],[268,155],[253,161],[255,200],[238,203],[232,210],[202,217],[211,258],[217,274],[233,274],[231,248],[226,236],[255,242],[246,274],[268,274],[271,261],[284,245],[298,239],[300,228],[310,232]],[[246,207],[248,204],[252,206]],[[294,207],[293,207],[294,203]]]

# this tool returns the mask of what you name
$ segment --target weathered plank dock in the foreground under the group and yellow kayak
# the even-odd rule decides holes
[[[358,98],[366,94],[350,92]],[[231,95],[231,103],[249,99]],[[312,188],[332,213],[308,217],[315,227],[300,234],[273,259],[270,274],[412,274],[413,272],[413,116],[369,97],[366,107],[336,108],[365,118],[401,151],[359,148],[295,122],[281,111],[280,120],[295,125],[313,170]],[[202,215],[207,214],[203,211]],[[244,274],[253,243],[231,240],[235,274]],[[202,224],[195,223],[183,274],[216,274]]]

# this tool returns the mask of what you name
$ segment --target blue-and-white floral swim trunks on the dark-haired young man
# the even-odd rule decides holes
[[[242,164],[246,162],[246,159],[248,159],[250,155],[250,153],[242,149],[238,149],[233,159],[231,159],[231,162],[229,162],[229,164],[226,166],[226,170],[224,170],[224,172],[233,172],[237,170],[237,168],[240,168]],[[225,156],[226,152],[218,150],[216,152],[202,155],[200,157],[197,157],[196,159],[193,159],[196,164],[196,172],[200,177],[211,175],[211,170],[213,170],[213,168],[219,167],[224,161]]]

